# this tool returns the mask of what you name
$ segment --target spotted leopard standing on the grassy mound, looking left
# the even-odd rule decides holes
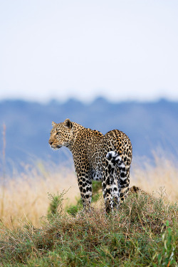
[[[129,192],[132,162],[129,137],[120,130],[103,135],[70,119],[52,122],[52,127],[49,145],[53,150],[67,147],[72,152],[83,209],[90,209],[93,180],[102,181],[105,212],[118,209]]]

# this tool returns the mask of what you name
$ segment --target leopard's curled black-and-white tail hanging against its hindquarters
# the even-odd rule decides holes
[[[110,151],[107,153],[106,158],[110,161],[112,167],[115,167],[117,165],[117,167],[120,169],[120,179],[122,179],[123,181],[127,179],[125,164],[122,161],[120,155],[115,151]]]

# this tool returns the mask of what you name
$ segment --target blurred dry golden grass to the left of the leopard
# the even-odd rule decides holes
[[[46,216],[48,194],[66,190],[64,205],[76,202],[79,189],[73,169],[49,172],[42,163],[31,171],[16,174],[8,179],[6,187],[0,187],[0,218],[6,226],[17,225],[19,219],[28,219],[38,226],[41,216]],[[2,198],[3,196],[3,198]]]

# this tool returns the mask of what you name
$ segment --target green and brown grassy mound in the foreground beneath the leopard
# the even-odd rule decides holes
[[[1,266],[177,266],[177,204],[144,192],[130,194],[119,211],[63,210],[51,196],[41,227],[1,225]]]

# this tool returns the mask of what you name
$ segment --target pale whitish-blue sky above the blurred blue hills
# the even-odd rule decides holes
[[[178,100],[177,0],[0,0],[0,100]]]

